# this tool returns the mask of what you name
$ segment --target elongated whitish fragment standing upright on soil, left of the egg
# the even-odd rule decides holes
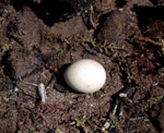
[[[42,102],[46,101],[46,89],[45,89],[45,85],[43,83],[38,84],[38,94],[40,96]]]

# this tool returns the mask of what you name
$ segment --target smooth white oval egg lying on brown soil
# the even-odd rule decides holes
[[[97,61],[81,59],[67,68],[63,78],[77,92],[95,93],[104,86],[106,72]]]

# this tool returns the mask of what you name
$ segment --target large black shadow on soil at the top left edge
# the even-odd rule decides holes
[[[16,11],[30,7],[48,26],[52,26],[55,22],[59,22],[73,12],[70,3],[63,0],[50,0],[49,2],[42,0],[40,3],[34,3],[32,0],[11,0],[11,4]]]

